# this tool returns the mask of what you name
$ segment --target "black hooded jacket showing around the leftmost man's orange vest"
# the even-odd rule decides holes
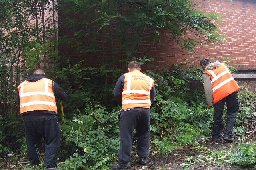
[[[42,78],[46,78],[44,74],[29,74],[27,81],[29,82],[36,82]],[[61,101],[67,100],[67,94],[59,87],[59,85],[52,81],[52,90],[54,92],[54,96],[59,98]],[[19,92],[17,91],[17,104],[20,106],[20,96]],[[28,111],[22,113],[24,117],[38,117],[38,116],[48,116],[48,115],[57,115],[55,111],[45,111],[45,110],[35,110],[35,111]]]

